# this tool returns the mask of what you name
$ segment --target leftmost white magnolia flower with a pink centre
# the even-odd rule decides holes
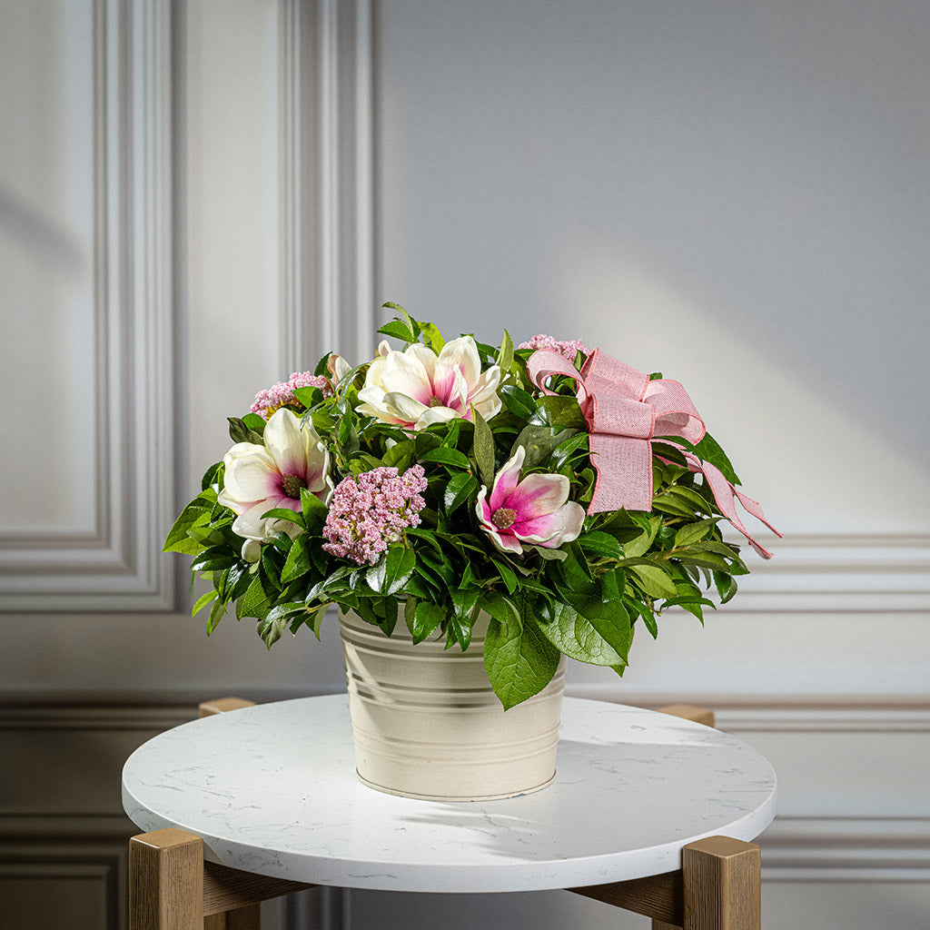
[[[275,507],[300,510],[300,491],[306,487],[327,501],[333,492],[329,454],[310,423],[290,410],[272,414],[265,426],[264,445],[236,443],[223,457],[223,489],[218,502],[238,514],[233,533],[246,539],[265,539],[283,531],[297,537],[300,528],[287,520],[262,514]],[[250,554],[254,555],[253,551]],[[244,558],[248,556],[244,553]]]

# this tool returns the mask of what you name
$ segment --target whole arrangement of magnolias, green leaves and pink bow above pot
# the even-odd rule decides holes
[[[703,622],[748,569],[728,520],[764,521],[684,388],[579,341],[499,347],[402,307],[377,356],[339,355],[259,392],[230,418],[233,447],[168,533],[269,647],[319,638],[331,604],[416,643],[467,649],[490,616],[485,669],[505,708],[551,680],[562,654],[622,674],[633,631],[680,607]],[[767,524],[766,524],[767,525]],[[771,527],[770,527],[771,528]]]

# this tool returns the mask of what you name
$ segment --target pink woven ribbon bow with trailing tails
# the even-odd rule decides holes
[[[697,408],[678,381],[650,381],[642,371],[600,349],[591,352],[580,372],[558,352],[539,349],[530,356],[526,371],[546,394],[554,393],[546,386],[553,375],[564,375],[578,383],[578,404],[591,433],[591,461],[597,474],[589,513],[620,508],[651,511],[653,437],[680,436],[694,445],[706,432]],[[676,444],[672,440],[670,445]],[[742,524],[735,500],[780,536],[765,519],[759,504],[737,491],[716,466],[681,451],[688,468],[704,475],[720,512],[755,551],[771,558],[771,552],[765,551]]]

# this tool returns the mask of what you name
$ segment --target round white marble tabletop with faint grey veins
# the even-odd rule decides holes
[[[183,724],[135,751],[123,805],[141,830],[204,838],[206,858],[301,882],[504,892],[677,869],[684,844],[751,840],[775,817],[757,751],[700,724],[565,698],[552,784],[498,801],[395,797],[354,774],[345,695]]]

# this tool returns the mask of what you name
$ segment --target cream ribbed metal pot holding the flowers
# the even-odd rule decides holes
[[[538,695],[504,711],[483,657],[488,618],[466,652],[445,636],[413,644],[340,615],[358,776],[390,794],[437,801],[508,798],[555,775],[565,657]]]

